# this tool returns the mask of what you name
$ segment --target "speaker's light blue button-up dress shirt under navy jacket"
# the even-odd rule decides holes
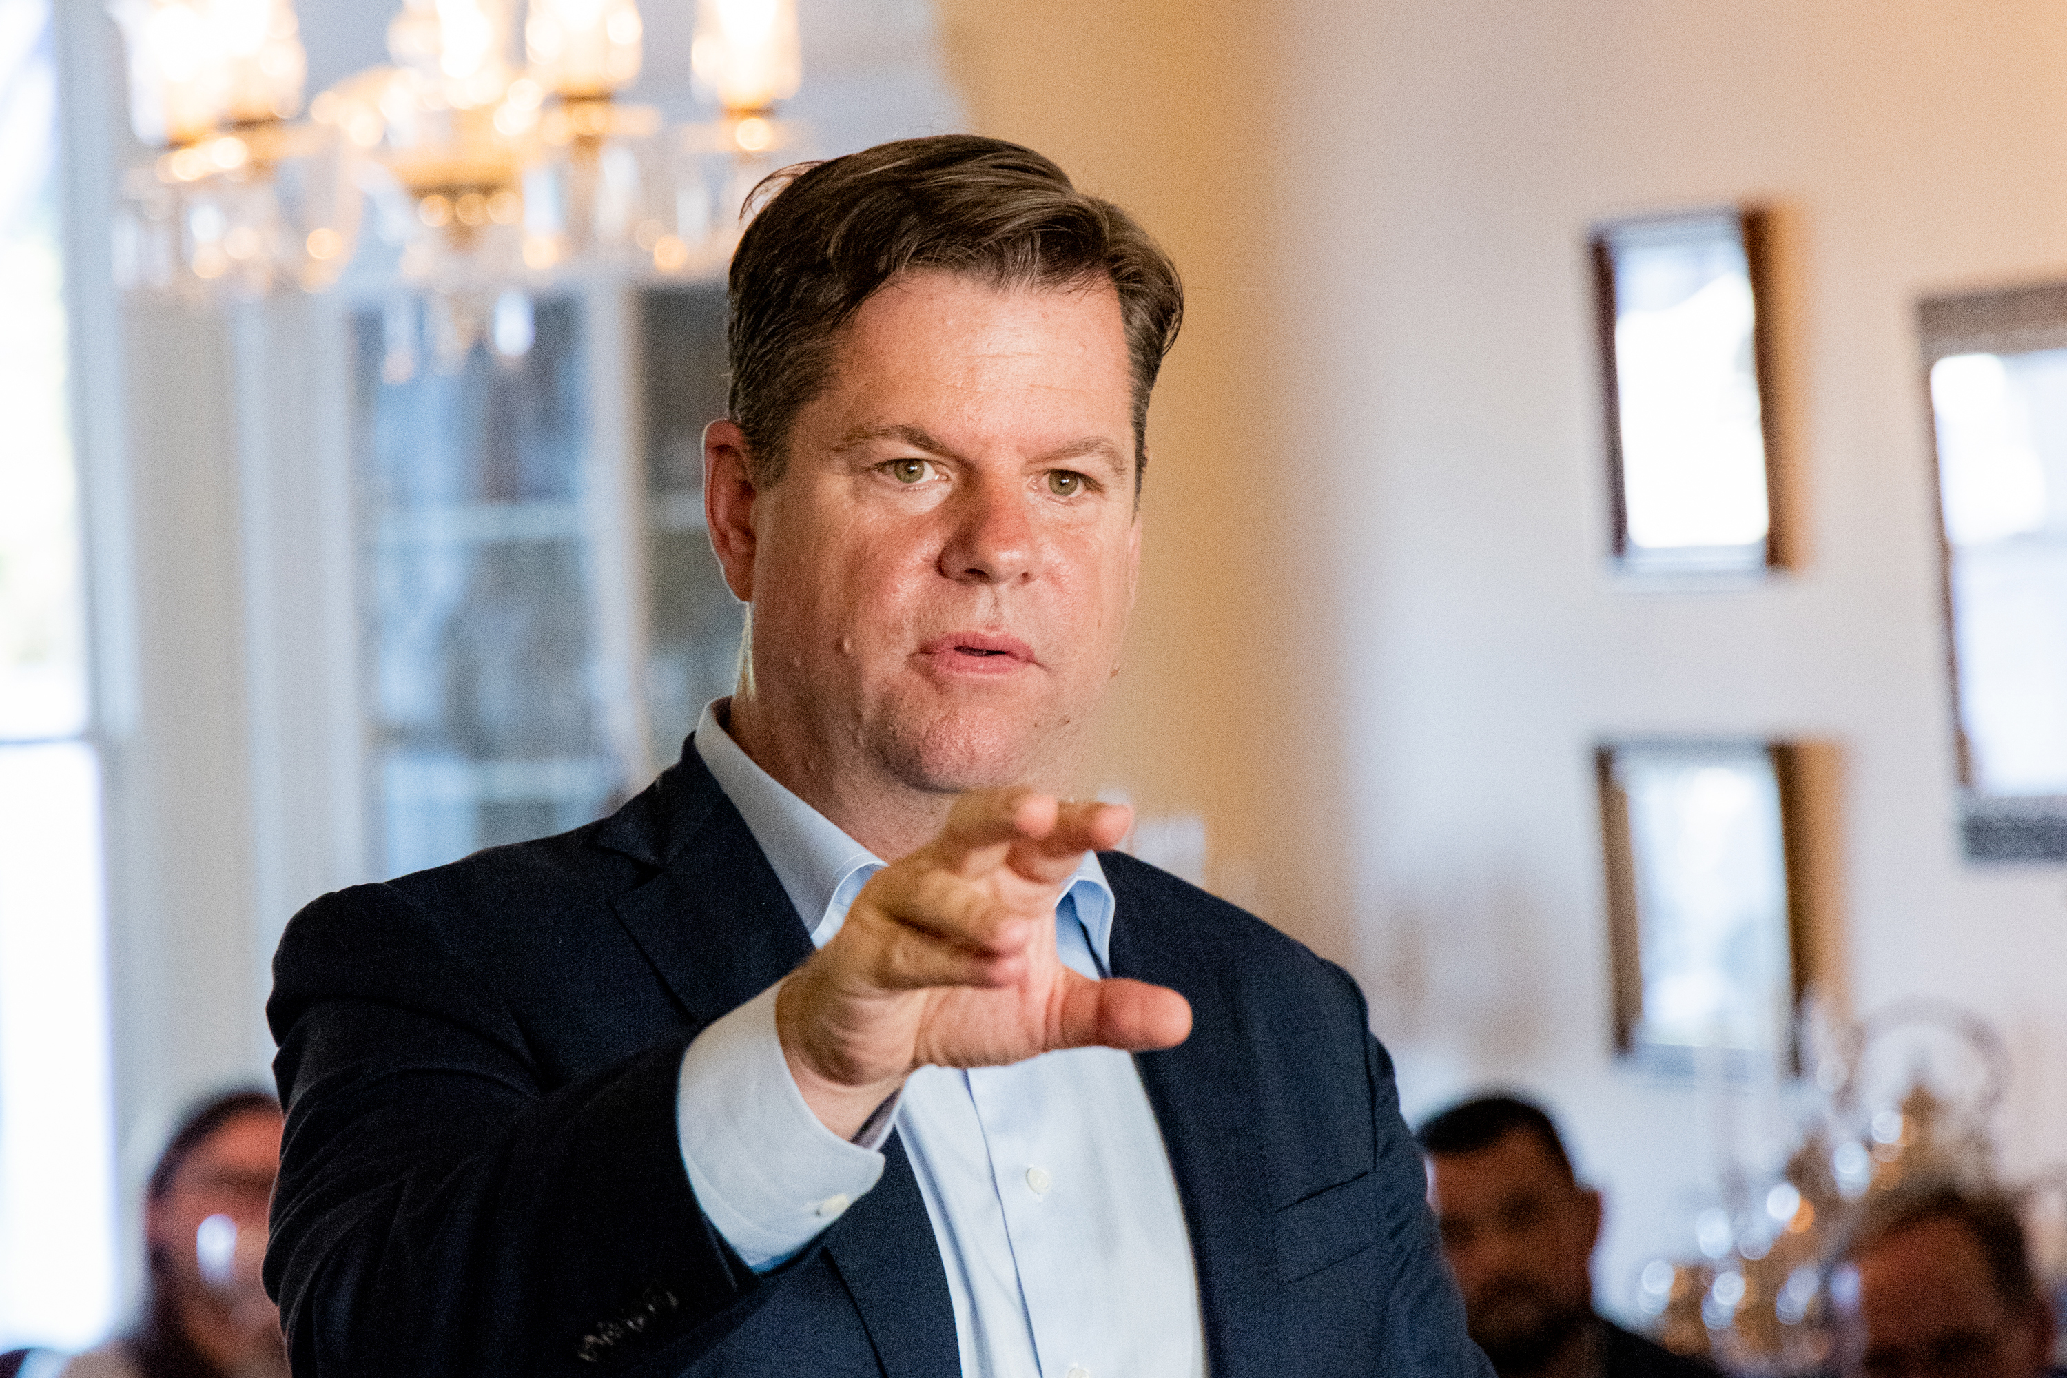
[[[783,789],[703,711],[697,752],[746,820],[819,946],[883,862]],[[1056,946],[1104,979],[1112,886],[1085,855]],[[903,1138],[940,1246],[967,1378],[1199,1378],[1205,1328],[1162,1130],[1129,1054],[1077,1047],[998,1068],[920,1068],[847,1142],[790,1076],[775,988],[682,1058],[682,1163],[705,1215],[754,1271],[790,1258],[883,1176]]]

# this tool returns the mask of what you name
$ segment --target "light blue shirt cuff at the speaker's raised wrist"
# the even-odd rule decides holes
[[[697,1035],[682,1054],[674,1101],[697,1204],[754,1273],[802,1250],[876,1184],[876,1145],[891,1118],[870,1116],[874,1132],[864,1134],[874,1142],[864,1147],[810,1114],[775,1033],[777,988]]]

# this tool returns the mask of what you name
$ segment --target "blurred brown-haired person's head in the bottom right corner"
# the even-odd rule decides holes
[[[2009,1200],[1945,1180],[1867,1198],[1829,1279],[1846,1378],[2034,1378],[2053,1310]]]

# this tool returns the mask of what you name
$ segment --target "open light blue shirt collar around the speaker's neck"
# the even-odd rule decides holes
[[[798,917],[810,930],[810,940],[823,948],[839,932],[847,905],[883,859],[757,766],[726,731],[723,719],[730,707],[730,698],[713,698],[703,707],[703,717],[697,719],[697,756],[732,800],[732,808],[740,810],[746,831],[754,835]],[[1114,899],[1096,851],[1083,853],[1062,899],[1073,903],[1056,905],[1056,921],[1065,919],[1065,911],[1075,911],[1100,971],[1110,971]]]

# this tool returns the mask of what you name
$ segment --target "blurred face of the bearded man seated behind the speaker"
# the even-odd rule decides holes
[[[1511,1130],[1478,1153],[1430,1157],[1428,1202],[1472,1339],[1501,1372],[1542,1368],[1592,1316],[1600,1194]]]

